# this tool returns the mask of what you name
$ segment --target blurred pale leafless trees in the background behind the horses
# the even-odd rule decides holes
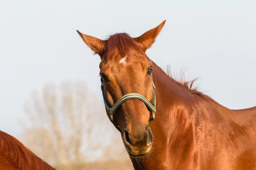
[[[48,84],[25,105],[21,141],[51,164],[127,158],[120,134],[84,82]]]

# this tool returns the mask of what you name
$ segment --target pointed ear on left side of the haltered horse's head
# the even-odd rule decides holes
[[[106,48],[105,41],[100,40],[96,37],[92,37],[90,35],[85,35],[78,30],[76,30],[76,31],[81,36],[81,38],[84,40],[85,44],[87,44],[91,48],[91,50],[94,51],[94,54],[99,54],[99,56],[102,57],[102,54]]]

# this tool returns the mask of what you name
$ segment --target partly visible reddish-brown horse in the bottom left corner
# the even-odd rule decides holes
[[[56,170],[15,137],[0,130],[0,170]]]

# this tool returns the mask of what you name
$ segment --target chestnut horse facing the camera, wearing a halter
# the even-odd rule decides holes
[[[256,107],[228,109],[152,62],[145,51],[164,23],[107,40],[77,30],[101,58],[106,113],[134,169],[256,170]]]

